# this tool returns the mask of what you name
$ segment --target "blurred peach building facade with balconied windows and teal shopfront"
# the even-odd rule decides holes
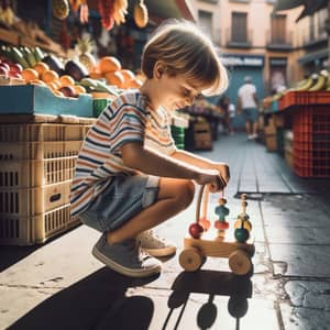
[[[326,65],[326,10],[296,22],[302,7],[274,12],[274,0],[190,2],[230,73],[227,94],[233,102],[246,75],[263,98]]]

